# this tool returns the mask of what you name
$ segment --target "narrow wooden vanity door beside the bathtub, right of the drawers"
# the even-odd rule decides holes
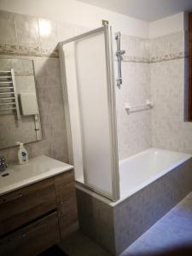
[[[78,210],[76,203],[73,172],[64,172],[55,177],[55,193],[58,208],[61,239],[78,230]]]

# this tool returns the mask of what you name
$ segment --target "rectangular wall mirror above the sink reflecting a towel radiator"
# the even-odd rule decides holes
[[[41,138],[33,61],[0,59],[0,148]]]

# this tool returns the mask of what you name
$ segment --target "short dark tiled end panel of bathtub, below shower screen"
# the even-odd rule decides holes
[[[80,230],[115,254],[113,208],[79,189],[76,195]]]

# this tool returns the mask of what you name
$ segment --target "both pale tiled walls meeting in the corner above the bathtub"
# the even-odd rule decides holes
[[[187,33],[144,39],[122,36],[123,84],[116,88],[119,159],[154,147],[192,153],[192,124],[184,122],[187,99]],[[128,114],[125,102],[154,102]]]

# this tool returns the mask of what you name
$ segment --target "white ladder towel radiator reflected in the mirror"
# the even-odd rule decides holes
[[[16,119],[20,120],[20,108],[13,68],[0,71],[0,114],[9,110],[15,110]]]

